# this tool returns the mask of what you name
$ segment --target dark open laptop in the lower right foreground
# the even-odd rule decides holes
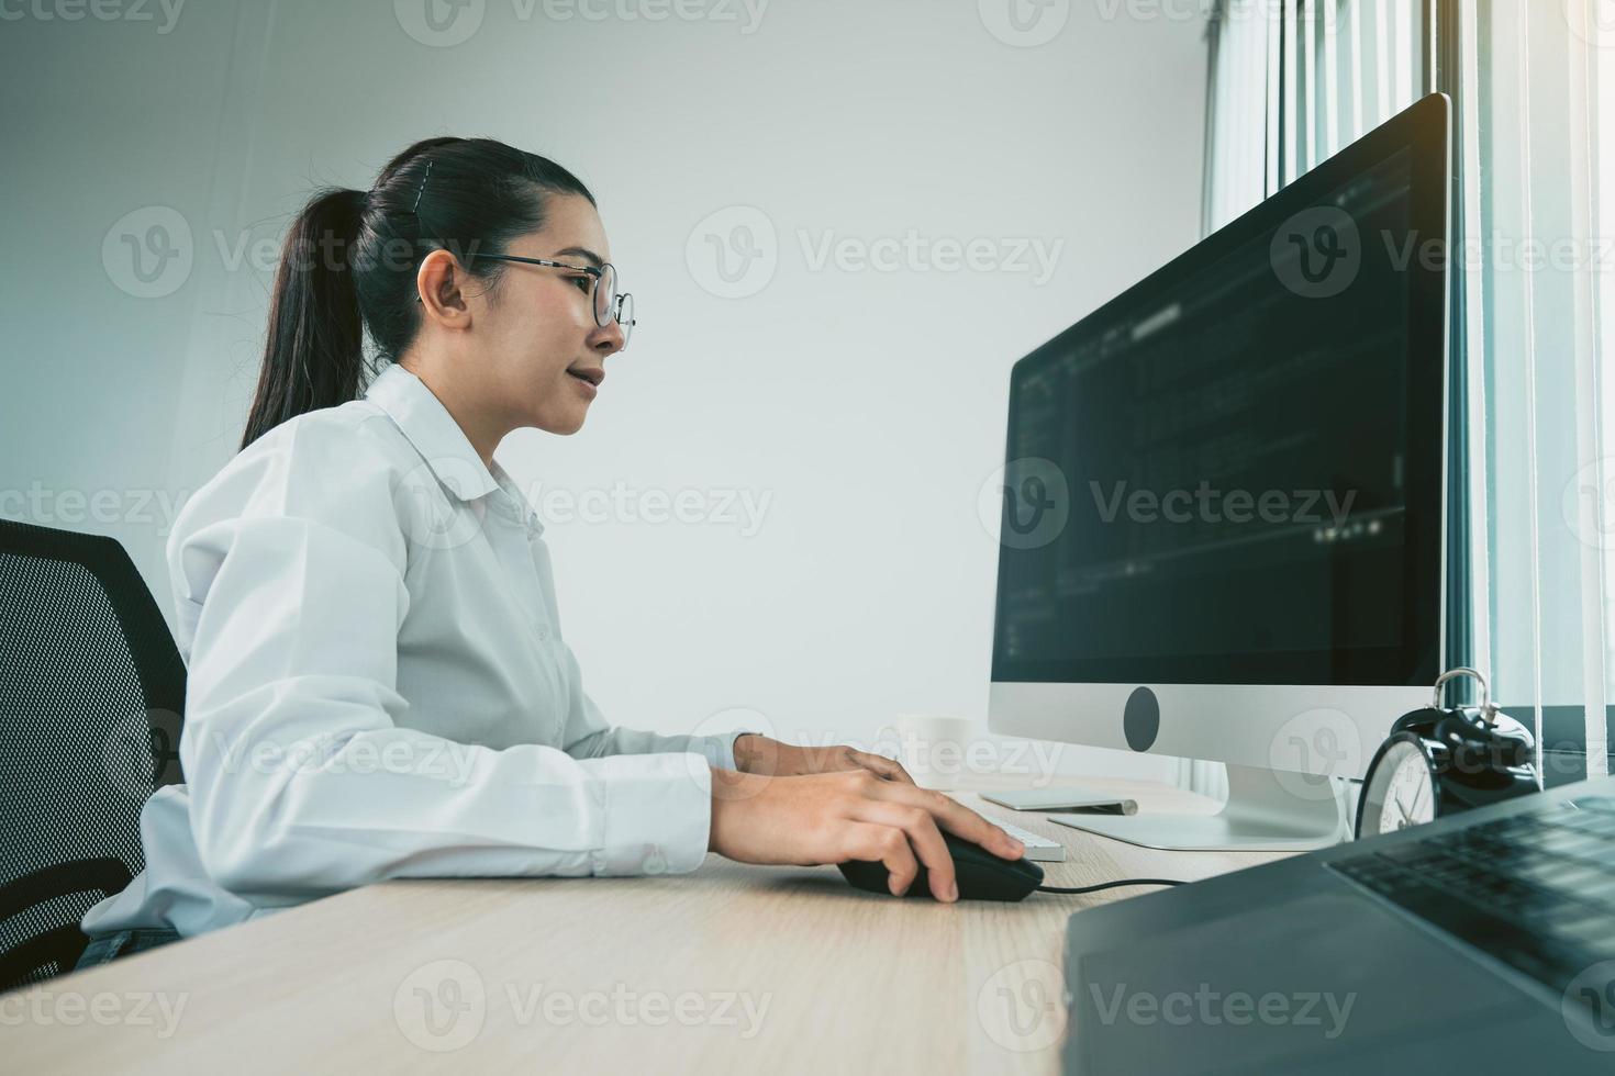
[[[1615,778],[1090,908],[1069,1074],[1615,1073]]]

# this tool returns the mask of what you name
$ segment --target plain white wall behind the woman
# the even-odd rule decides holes
[[[1008,371],[1195,242],[1202,23],[1076,0],[1051,40],[1017,47],[988,31],[993,0],[774,0],[754,26],[728,0],[685,0],[693,21],[580,5],[657,10],[472,0],[457,29],[481,21],[454,45],[405,32],[430,39],[417,0],[215,0],[168,32],[155,5],[155,24],[0,23],[0,513],[44,503],[115,534],[166,607],[165,521],[136,502],[182,495],[234,450],[273,269],[254,245],[273,250],[315,184],[368,187],[415,139],[486,134],[594,189],[640,300],[588,427],[518,432],[505,468],[541,510],[543,490],[619,484],[714,510],[727,490],[769,498],[756,534],[551,513],[565,629],[607,715],[678,731],[749,708],[812,740],[869,740],[898,711],[984,718],[996,561],[977,495],[1001,463]],[[772,279],[741,298],[712,294],[706,240],[757,219],[733,206],[777,234],[741,284]],[[165,213],[191,229],[191,268],[131,295],[118,232]],[[803,248],[909,229],[995,258],[1061,247],[1047,281],[814,268]],[[74,502],[18,495],[34,482],[113,490],[121,516],[65,519]]]

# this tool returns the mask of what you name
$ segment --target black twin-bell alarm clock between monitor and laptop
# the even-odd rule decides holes
[[[1471,676],[1479,707],[1442,708],[1441,689]],[[1368,763],[1357,837],[1395,832],[1471,807],[1536,792],[1536,739],[1492,705],[1486,678],[1460,668],[1436,681],[1429,707],[1403,715]]]

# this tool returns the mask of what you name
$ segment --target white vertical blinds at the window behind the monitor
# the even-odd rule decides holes
[[[1452,95],[1447,657],[1537,728],[1550,784],[1607,773],[1615,0],[1219,0],[1208,47],[1206,232]]]

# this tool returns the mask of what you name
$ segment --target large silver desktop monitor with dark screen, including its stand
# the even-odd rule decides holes
[[[1433,95],[1016,363],[988,726],[1227,763],[1316,849],[1428,705],[1445,602],[1450,102]]]

